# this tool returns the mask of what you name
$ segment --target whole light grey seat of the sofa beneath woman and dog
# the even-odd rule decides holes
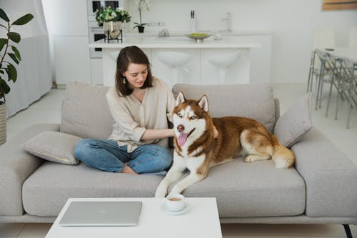
[[[23,186],[24,209],[56,217],[69,197],[154,197],[159,175],[102,172],[45,162]],[[295,169],[276,169],[273,161],[244,163],[238,158],[211,168],[208,177],[184,192],[216,197],[220,217],[271,217],[302,214],[305,184]]]

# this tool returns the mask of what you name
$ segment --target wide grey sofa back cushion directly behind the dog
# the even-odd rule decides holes
[[[175,84],[174,96],[186,99],[207,95],[211,116],[243,116],[255,119],[273,132],[276,122],[273,88],[269,84],[193,85]]]

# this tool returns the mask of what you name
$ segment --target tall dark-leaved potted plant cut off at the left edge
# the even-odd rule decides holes
[[[6,29],[6,36],[0,38],[0,145],[6,142],[6,98],[9,94],[9,81],[16,82],[17,70],[14,63],[19,64],[21,61],[21,54],[14,46],[14,43],[19,43],[21,36],[19,33],[11,31],[11,26],[21,26],[34,18],[32,14],[26,14],[19,19],[10,23],[9,17],[3,9],[0,9],[0,18],[5,21],[0,22],[0,27]],[[8,82],[5,81],[7,79]]]

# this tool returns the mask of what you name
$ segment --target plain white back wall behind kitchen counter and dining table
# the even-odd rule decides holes
[[[132,22],[139,21],[134,0],[127,9]],[[188,31],[191,10],[197,29],[225,29],[221,19],[229,11],[233,31],[270,31],[274,83],[307,81],[314,28],[334,26],[336,46],[347,46],[349,27],[357,25],[357,11],[321,11],[321,0],[150,0],[150,11],[144,10],[142,19],[165,21],[169,31]]]

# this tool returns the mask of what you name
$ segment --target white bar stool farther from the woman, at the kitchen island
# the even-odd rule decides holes
[[[213,64],[213,66],[216,67],[218,70],[218,75],[219,75],[219,83],[220,84],[226,84],[226,74],[228,71],[228,68],[238,61],[238,59],[241,57],[241,52],[237,51],[234,53],[230,54],[223,54],[220,56],[213,56],[211,58],[208,58],[208,62]]]

